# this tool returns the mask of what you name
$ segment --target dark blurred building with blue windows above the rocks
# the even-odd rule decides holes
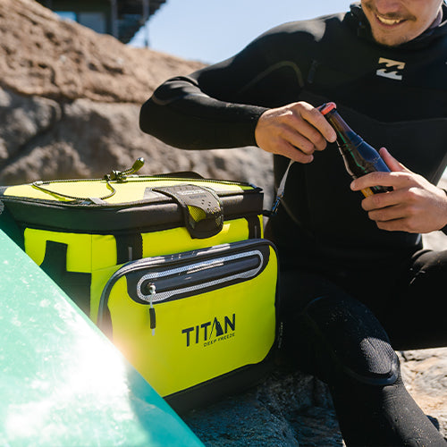
[[[127,44],[167,0],[38,0],[66,19]],[[148,42],[147,42],[148,44]]]

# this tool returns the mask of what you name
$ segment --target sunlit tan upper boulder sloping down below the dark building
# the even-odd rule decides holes
[[[33,0],[0,4],[2,86],[58,101],[89,98],[139,104],[174,71],[203,66],[171,55],[124,46]]]

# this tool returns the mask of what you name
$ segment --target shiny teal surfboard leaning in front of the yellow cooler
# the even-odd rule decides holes
[[[2,230],[0,445],[203,445]]]

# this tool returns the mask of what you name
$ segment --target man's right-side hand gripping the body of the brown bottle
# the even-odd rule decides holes
[[[447,224],[447,195],[421,175],[412,173],[385,149],[380,155],[391,173],[368,173],[352,181],[351,190],[381,185],[393,190],[364,198],[362,207],[382,230],[434,232]]]

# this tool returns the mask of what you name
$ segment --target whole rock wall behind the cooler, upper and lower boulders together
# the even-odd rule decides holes
[[[97,178],[143,156],[140,173],[266,185],[271,156],[257,148],[183,151],[139,131],[139,107],[156,86],[201,66],[124,46],[32,0],[2,0],[0,183]]]

